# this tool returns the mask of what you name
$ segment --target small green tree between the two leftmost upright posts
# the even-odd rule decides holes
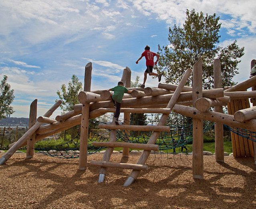
[[[62,113],[67,113],[74,109],[75,104],[79,104],[78,94],[82,91],[82,82],[79,81],[76,75],[71,77],[71,81],[69,82],[68,88],[65,84],[61,85],[61,92],[58,90],[56,93],[60,100],[62,100],[62,104],[60,108],[62,109]],[[57,100],[56,100],[57,101]],[[77,133],[80,131],[80,125],[76,125],[67,131],[64,131],[64,134],[71,134],[71,138],[75,137]],[[63,132],[62,132],[63,133]],[[66,137],[66,135],[64,136]]]

